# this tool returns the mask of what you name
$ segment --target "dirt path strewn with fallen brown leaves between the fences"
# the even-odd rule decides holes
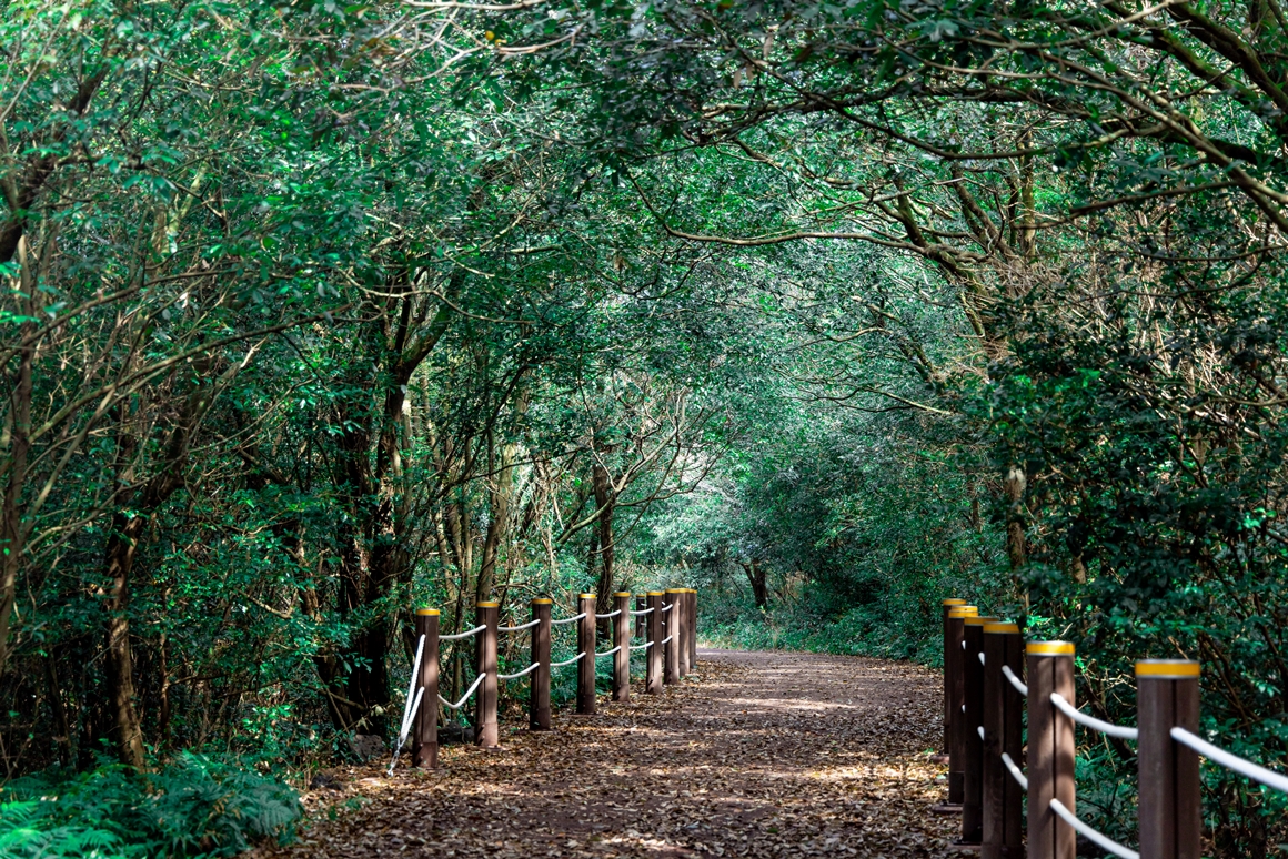
[[[447,747],[433,773],[354,770],[344,791],[366,805],[268,855],[943,856],[939,683],[902,662],[698,650],[665,695],[635,684],[501,751]]]

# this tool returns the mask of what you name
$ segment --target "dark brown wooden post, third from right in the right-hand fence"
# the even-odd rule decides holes
[[[1021,676],[1020,627],[984,625],[984,831],[981,859],[1019,859],[1024,791],[1002,764],[1002,752],[1023,766],[1024,698],[1002,675]]]

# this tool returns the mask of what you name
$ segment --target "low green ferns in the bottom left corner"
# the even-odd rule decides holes
[[[289,841],[303,809],[267,775],[184,753],[157,773],[46,770],[0,791],[0,859],[232,856]]]

